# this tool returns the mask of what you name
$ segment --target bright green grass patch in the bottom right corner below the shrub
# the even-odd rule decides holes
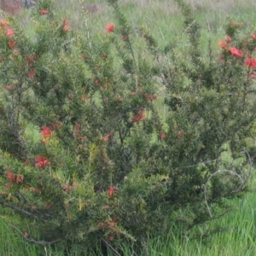
[[[233,201],[232,212],[224,218],[205,224],[204,228],[198,227],[189,236],[179,237],[171,232],[166,241],[163,242],[162,238],[156,240],[152,248],[162,255],[255,255],[255,206],[254,195],[250,193],[245,198]],[[221,227],[222,231],[215,233],[214,228],[217,227]],[[200,229],[201,232],[213,230],[213,233],[207,238],[201,234],[199,240],[193,239],[193,233],[200,232]]]

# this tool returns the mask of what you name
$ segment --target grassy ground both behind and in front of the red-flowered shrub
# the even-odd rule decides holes
[[[59,5],[58,15],[60,20],[65,16],[71,22],[73,28],[79,29],[84,22],[79,15],[79,1],[56,0]],[[197,19],[202,26],[202,48],[207,45],[207,38],[212,38],[215,44],[218,39],[224,37],[223,25],[227,15],[234,17],[237,22],[243,22],[245,26],[256,29],[254,0],[189,0],[189,3],[197,9]],[[114,21],[113,12],[106,1],[84,1],[84,7],[95,4],[96,11],[88,14],[91,27],[94,32],[104,31],[105,24]],[[182,16],[170,0],[122,0],[120,5],[124,9],[125,16],[129,20],[135,34],[137,26],[145,24],[152,34],[160,39],[160,45],[164,46],[181,31]],[[29,18],[29,11],[21,14],[20,22],[27,28],[26,32],[32,34],[33,23]],[[252,32],[256,32],[252,31]],[[184,44],[181,46],[181,50]],[[216,49],[218,45],[216,44]],[[253,177],[255,179],[255,177]],[[254,188],[242,198],[232,201],[232,210],[224,218],[216,219],[211,223],[197,227],[189,234],[179,234],[178,230],[170,231],[162,237],[151,237],[145,245],[144,255],[169,256],[169,255],[201,255],[201,256],[241,256],[256,254],[256,201]],[[218,232],[218,228],[221,228]],[[207,233],[205,230],[212,230]],[[210,235],[209,235],[210,234]],[[195,239],[197,235],[197,239]],[[124,245],[125,255],[136,255]],[[118,255],[111,253],[112,255]],[[49,247],[30,245],[20,239],[20,235],[9,228],[4,218],[0,218],[0,255],[9,256],[33,256],[33,255],[63,255],[61,251],[53,251]],[[76,255],[75,253],[73,255]],[[141,254],[143,255],[143,254]]]

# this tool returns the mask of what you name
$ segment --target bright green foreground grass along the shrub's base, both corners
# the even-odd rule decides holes
[[[180,234],[178,230],[170,230],[169,234],[161,237],[151,237],[145,246],[147,249],[144,249],[144,251],[148,251],[148,254],[141,253],[140,256],[255,255],[256,201],[254,192],[251,191],[244,197],[232,201],[232,210],[224,218],[196,227],[187,235]],[[208,236],[206,236],[207,234]],[[3,218],[0,220],[0,250],[4,253],[1,255],[8,256],[64,255],[60,251],[54,251],[49,247],[38,247],[21,240],[20,235],[11,230]],[[76,253],[70,256],[74,255]],[[109,255],[114,256],[116,254],[110,250]],[[127,245],[124,245],[124,255],[136,254]]]

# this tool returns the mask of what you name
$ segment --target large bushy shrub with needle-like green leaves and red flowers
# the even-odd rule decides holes
[[[254,64],[244,63],[256,40],[242,44],[232,21],[221,59],[210,44],[205,57],[193,9],[175,2],[186,55],[178,39],[160,49],[146,27],[144,45],[135,44],[113,0],[118,26],[97,37],[86,15],[82,32],[55,20],[49,0],[35,10],[34,38],[15,20],[1,23],[0,203],[26,218],[12,224],[26,240],[68,252],[140,245],[173,223],[188,230],[218,216],[245,188],[250,158],[241,150],[256,106]],[[226,150],[239,164],[222,160]]]

